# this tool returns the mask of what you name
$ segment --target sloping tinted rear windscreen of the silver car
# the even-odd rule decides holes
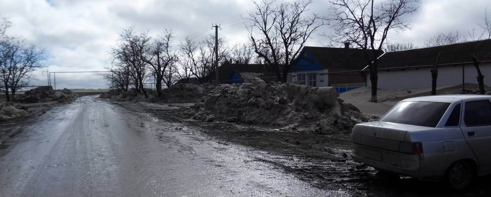
[[[449,106],[446,102],[401,101],[380,121],[436,127]]]

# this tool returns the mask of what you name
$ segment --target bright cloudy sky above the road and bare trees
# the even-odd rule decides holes
[[[277,0],[288,2],[292,0]],[[412,42],[422,46],[425,40],[440,32],[466,36],[469,31],[482,30],[485,9],[490,0],[421,0],[418,11],[408,16],[411,30],[392,32],[391,42]],[[330,14],[328,0],[313,0],[309,12]],[[118,33],[134,26],[151,36],[172,30],[177,46],[186,36],[201,39],[214,33],[212,24],[220,24],[219,37],[227,43],[247,41],[244,25],[247,12],[253,11],[251,0],[0,0],[0,16],[13,26],[10,35],[22,37],[26,43],[46,50],[44,71],[36,71],[33,85],[46,85],[46,70],[103,71],[111,65],[108,51],[118,42]],[[322,27],[307,43],[325,46],[331,33]],[[59,73],[60,88],[107,88],[96,73]]]

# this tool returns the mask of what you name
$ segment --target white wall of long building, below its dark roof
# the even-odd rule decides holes
[[[491,86],[491,63],[479,66],[484,75],[484,84]],[[465,66],[465,83],[477,84],[477,71],[473,65]],[[370,75],[367,83],[371,86]],[[462,83],[462,66],[443,66],[438,68],[437,87],[458,85]],[[430,68],[390,70],[378,72],[378,89],[412,89],[431,87]]]

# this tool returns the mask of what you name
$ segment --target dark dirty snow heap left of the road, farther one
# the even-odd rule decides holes
[[[32,90],[26,91],[19,99],[20,102],[35,103],[58,101],[66,103],[75,100],[75,94],[68,89],[54,91],[51,86],[40,86]]]

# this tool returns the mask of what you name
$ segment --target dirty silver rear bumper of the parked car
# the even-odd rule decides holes
[[[352,158],[355,162],[410,176],[416,179],[425,179],[423,173],[423,156],[420,154],[404,154],[360,144],[353,144]]]

